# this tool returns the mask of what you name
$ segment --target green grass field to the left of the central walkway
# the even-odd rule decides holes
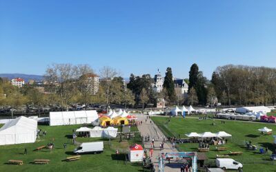
[[[73,155],[72,151],[76,148],[72,144],[72,129],[77,129],[81,125],[70,126],[39,126],[39,129],[47,131],[46,136],[41,136],[34,143],[14,144],[0,146],[0,171],[142,171],[141,164],[132,164],[127,162],[124,164],[125,156],[115,156],[115,150],[128,150],[133,142],[139,143],[139,138],[132,140],[119,139],[111,140],[111,146],[108,140],[105,141],[103,153],[92,155],[81,155],[81,160],[75,162],[63,162],[66,157]],[[132,127],[132,131],[137,131],[137,127]],[[33,151],[37,147],[46,145],[54,138],[55,149],[41,149],[41,151]],[[100,138],[77,138],[77,142],[90,142],[101,140]],[[63,143],[67,143],[67,148],[63,149]],[[24,149],[28,150],[27,155],[23,155]],[[49,164],[32,164],[34,159],[48,159]],[[6,164],[8,160],[23,160],[21,166]]]

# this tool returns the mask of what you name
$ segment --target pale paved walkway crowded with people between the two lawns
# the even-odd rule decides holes
[[[159,144],[161,143],[161,139],[165,137],[164,134],[159,130],[159,128],[154,124],[152,121],[150,123],[150,119],[146,122],[146,116],[144,115],[137,115],[138,120],[142,121],[142,125],[138,126],[139,131],[141,132],[141,136],[144,138],[146,136],[150,136],[149,142],[144,142],[144,147],[149,152],[150,150],[150,142],[152,141],[152,138],[155,139],[155,149],[153,149],[153,155],[152,155],[152,162],[155,165],[155,171],[158,171],[158,157],[160,153],[163,152],[178,152],[177,149],[172,149],[172,144],[170,142],[165,142],[164,144],[164,150],[160,151]],[[165,162],[166,164],[166,162]],[[164,171],[180,171],[178,164],[168,164],[164,165]]]

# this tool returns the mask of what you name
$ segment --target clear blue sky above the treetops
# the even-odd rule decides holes
[[[276,66],[276,1],[0,0],[0,73],[51,63],[188,77],[219,65]]]

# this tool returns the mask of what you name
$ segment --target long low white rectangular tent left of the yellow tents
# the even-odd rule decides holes
[[[99,118],[97,111],[51,111],[49,117],[50,126],[86,124]]]

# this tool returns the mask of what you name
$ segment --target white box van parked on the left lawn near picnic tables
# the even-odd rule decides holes
[[[83,142],[80,147],[77,147],[74,153],[101,153],[103,152],[103,142]]]

